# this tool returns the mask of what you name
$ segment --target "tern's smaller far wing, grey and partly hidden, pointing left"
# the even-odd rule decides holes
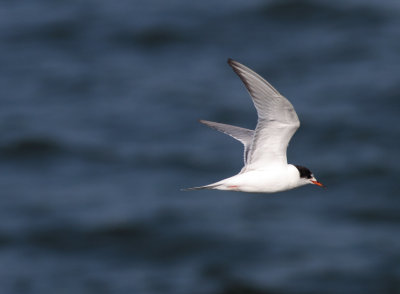
[[[240,141],[244,145],[244,165],[246,165],[248,161],[248,154],[250,150],[251,143],[253,141],[253,135],[254,131],[245,129],[245,128],[240,128],[240,127],[235,127],[232,125],[227,125],[227,124],[221,124],[221,123],[216,123],[212,121],[207,121],[207,120],[199,120],[202,124],[205,124],[206,126],[209,126],[210,128],[213,128],[217,131],[220,131],[224,134],[227,134],[234,139]]]

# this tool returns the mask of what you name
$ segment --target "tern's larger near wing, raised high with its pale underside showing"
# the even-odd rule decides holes
[[[232,59],[228,64],[245,84],[258,114],[245,170],[286,165],[287,146],[300,126],[293,105],[248,67]]]

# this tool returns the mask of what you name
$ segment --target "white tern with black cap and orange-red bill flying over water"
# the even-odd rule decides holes
[[[325,187],[306,167],[288,164],[286,149],[300,127],[293,105],[260,75],[239,62],[228,59],[257,110],[255,130],[200,120],[244,145],[244,166],[230,178],[185,190],[216,189],[251,193],[275,193],[307,184]]]

